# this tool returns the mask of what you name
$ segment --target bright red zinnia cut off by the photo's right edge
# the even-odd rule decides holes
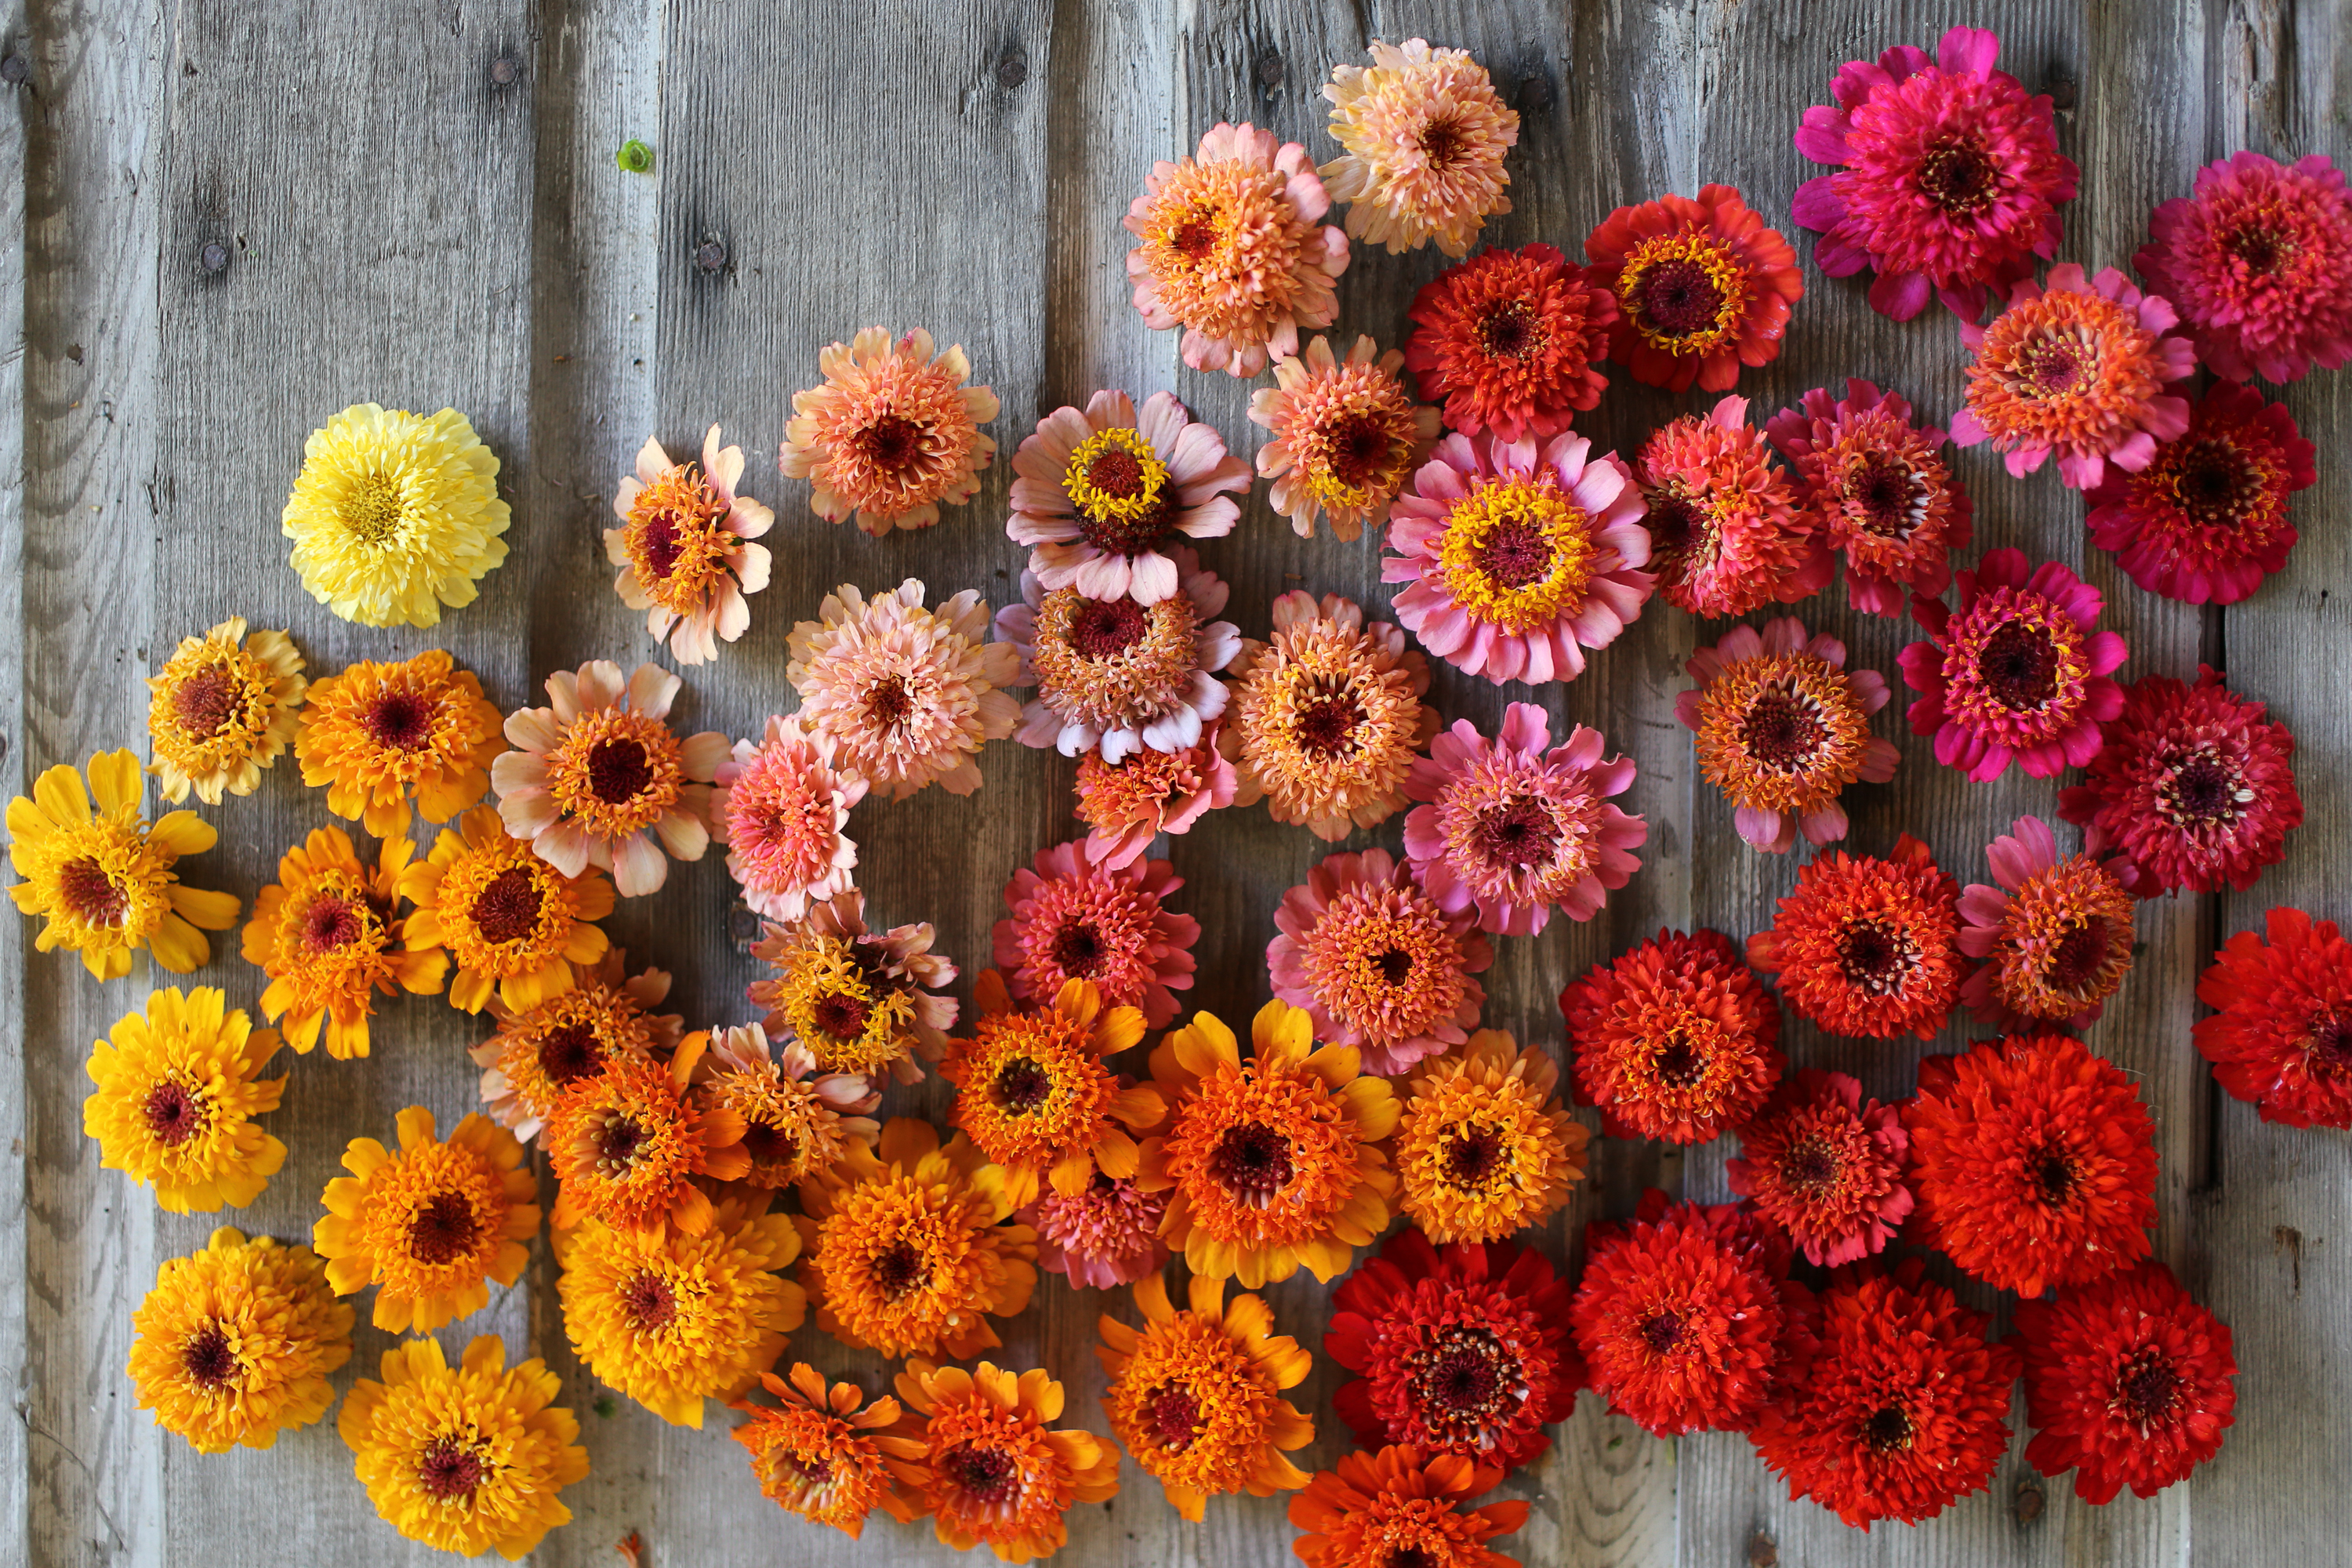
[[[2352,943],[2333,919],[2272,910],[2197,980],[2213,1081],[2286,1126],[2352,1126]]]

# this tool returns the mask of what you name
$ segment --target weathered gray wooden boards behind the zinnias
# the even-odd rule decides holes
[[[367,7],[245,0],[14,0],[0,7],[0,766],[9,790],[54,762],[141,745],[146,675],[172,644],[228,616],[287,625],[313,672],[362,656],[449,646],[513,708],[548,670],[649,656],[642,618],[609,590],[600,529],[607,496],[652,430],[673,449],[722,421],[750,458],[750,489],[776,505],[776,583],[753,599],[753,632],[715,668],[687,672],[687,729],[757,733],[788,705],[786,630],[842,581],[922,576],[934,592],[981,588],[1004,602],[1021,550],[1000,531],[1007,465],[938,529],[873,543],[807,510],[807,484],[774,475],[793,388],[816,350],[870,322],[929,327],[964,343],[995,386],[1002,454],[1040,411],[1117,386],[1174,388],[1237,451],[1256,447],[1249,388],[1176,360],[1176,334],[1148,331],[1127,303],[1120,216],[1155,158],[1188,153],[1216,120],[1254,120],[1334,155],[1317,96],[1329,66],[1369,38],[1428,35],[1470,47],[1522,113],[1510,162],[1515,212],[1484,240],[1550,240],[1578,254],[1611,207],[1661,190],[1733,181],[1766,216],[1785,214],[1813,167],[1790,134],[1828,101],[1839,61],[1893,42],[1933,47],[1955,21],[2002,33],[2002,66],[2060,106],[2082,197],[2065,209],[2065,259],[2126,263],[2147,209],[2180,195],[2211,158],[2251,146],[2279,158],[2347,146],[2336,61],[2345,0],[379,0]],[[656,174],[614,167],[642,136]],[[1783,228],[1788,228],[1783,223]],[[1811,261],[1811,240],[1799,254]],[[223,268],[205,266],[219,244]],[[710,247],[717,249],[710,249]],[[717,261],[710,266],[708,261]],[[1383,348],[1404,329],[1435,249],[1357,247],[1341,280],[1345,334]],[[1740,393],[1757,416],[1849,374],[1900,390],[1943,418],[1959,397],[1962,346],[1931,308],[1910,324],[1872,315],[1865,280],[1806,268],[1788,350]],[[503,461],[513,555],[477,604],[440,630],[372,632],[334,621],[285,567],[278,508],[303,435],[348,402],[468,411]],[[1578,428],[1632,451],[1672,414],[1712,397],[1668,397],[1613,371]],[[2347,1143],[2272,1128],[2218,1098],[2190,1046],[2192,980],[2218,938],[2272,903],[2345,914],[2336,896],[2352,717],[2343,703],[2345,583],[2352,536],[2343,376],[2286,390],[2319,444],[2319,487],[2300,496],[2291,569],[2249,604],[2197,611],[2133,588],[2084,548],[2082,503],[2056,468],[2030,482],[1985,449],[1959,454],[1976,494],[1978,550],[2023,545],[2079,564],[2110,592],[2131,642],[2129,675],[2190,675],[2225,663],[2298,741],[2310,823],[2249,896],[2143,907],[2147,947],[2091,1041],[2143,1084],[2161,1128],[2159,1253],[2237,1331],[2239,1420],[2220,1458],[2187,1486],[2105,1509],[2046,1483],[2011,1446],[1990,1495],[1943,1519],[1872,1535],[1788,1502],[1738,1436],[1663,1443],[1585,1399],[1543,1462],[1510,1481],[1534,1500],[1515,1540],[1526,1563],[1764,1566],[1900,1563],[2145,1566],[2336,1563],[2352,1540],[2352,1488],[2333,1432],[2352,1418],[2352,1265]],[[762,454],[769,454],[762,458]],[[1263,484],[1235,536],[1204,550],[1235,588],[1232,618],[1265,630],[1275,592],[1305,585],[1388,604],[1376,531],[1357,545],[1298,541]],[[2089,557],[2089,559],[2086,559]],[[1884,672],[1917,632],[1858,621],[1832,590],[1804,607]],[[1663,924],[1762,926],[1795,882],[1795,858],[1745,851],[1729,811],[1691,769],[1672,719],[1689,616],[1651,607],[1569,686],[1536,693],[1557,722],[1597,724],[1642,776],[1628,809],[1651,823],[1644,870],[1588,926],[1498,943],[1486,1023],[1557,1048],[1552,997],[1588,964]],[[1712,639],[1712,637],[1710,637]],[[1437,665],[1432,701],[1491,724],[1508,698]],[[1884,851],[1924,835],[1947,870],[1983,877],[1983,842],[2020,811],[2051,813],[2053,783],[2018,773],[1971,785],[1900,733],[1891,785],[1849,792],[1851,844]],[[997,889],[1042,844],[1070,837],[1073,764],[995,745],[971,799],[858,809],[863,884],[887,919],[936,919],[943,947],[976,971]],[[1696,785],[1696,788],[1693,788]],[[221,849],[202,886],[247,903],[278,853],[327,820],[292,764],[249,799],[205,813]],[[1362,842],[1395,846],[1402,818]],[[1263,994],[1272,905],[1327,853],[1263,811],[1209,818],[1174,842],[1200,917],[1197,1004],[1247,1018]],[[720,856],[680,867],[654,900],[609,922],[633,957],[680,976],[691,1023],[750,1013],[748,924],[729,914]],[[151,978],[96,985],[66,954],[33,954],[31,926],[0,943],[0,1366],[19,1420],[0,1422],[0,1561],[24,1563],[407,1563],[430,1554],[379,1523],[332,1422],[268,1453],[200,1458],[160,1436],[122,1375],[129,1312],[162,1258],[202,1244],[209,1215],[162,1215],[80,1133],[89,1041],[143,999]],[[252,1006],[261,980],[216,940],[198,983]],[[1842,1067],[1882,1098],[1912,1084],[1917,1058],[1950,1048],[1832,1041],[1790,1020],[1799,1065]],[[365,1063],[294,1063],[273,1128],[292,1145],[259,1204],[219,1215],[308,1237],[343,1143],[386,1135],[409,1103],[452,1124],[475,1098],[463,1046],[475,1027],[437,999],[390,1004]],[[941,1114],[936,1081],[891,1110]],[[1564,1262],[1585,1220],[1623,1215],[1644,1185],[1722,1199],[1726,1150],[1597,1143],[1592,1182],[1543,1246]],[[2004,1305],[1964,1288],[1978,1305]],[[1287,1333],[1319,1342],[1324,1291],[1308,1276],[1270,1291]],[[1101,1293],[1049,1279],[1007,1326],[1007,1356],[1070,1385],[1075,1420],[1103,1429],[1089,1352]],[[2006,1326],[2006,1314],[2004,1314]],[[621,1403],[590,1413],[597,1387],[564,1354],[553,1260],[442,1335],[501,1333],[550,1356],[586,1422],[593,1472],[564,1493],[576,1512],[536,1561],[614,1563],[640,1530],[647,1561],[941,1563],[927,1526],[877,1519],[863,1547],[781,1516],[717,1429],[689,1432]],[[386,1335],[360,1328],[348,1380]],[[873,1356],[814,1326],[788,1356],[833,1373]],[[1334,1368],[1317,1359],[1303,1403],[1319,1439]],[[2023,1415],[2023,1410],[2018,1413]],[[1183,1526],[1134,1467],[1127,1490],[1070,1521],[1075,1563],[1279,1563],[1282,1502],[1218,1500]]]

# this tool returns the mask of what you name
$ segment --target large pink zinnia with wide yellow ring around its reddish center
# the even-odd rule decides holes
[[[1559,435],[1449,435],[1397,496],[1383,583],[1411,583],[1397,621],[1446,663],[1494,684],[1585,672],[1585,649],[1616,642],[1656,578],[1642,491],[1611,451]]]

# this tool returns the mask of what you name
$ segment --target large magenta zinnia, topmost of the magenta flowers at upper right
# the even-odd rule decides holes
[[[1933,292],[1973,322],[1987,287],[2009,289],[2058,252],[2058,207],[2082,172],[2058,153],[2049,96],[1994,71],[1999,54],[1992,33],[1952,28],[1933,61],[1912,45],[1846,61],[1837,103],[1804,110],[1797,150],[1839,172],[1797,186],[1790,216],[1820,233],[1825,275],[1877,270],[1879,315],[1907,322]]]

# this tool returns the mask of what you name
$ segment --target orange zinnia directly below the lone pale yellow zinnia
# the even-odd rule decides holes
[[[412,795],[428,823],[482,799],[501,722],[473,670],[440,649],[405,663],[362,658],[310,684],[294,755],[306,785],[327,785],[327,811],[388,839],[409,830]]]

